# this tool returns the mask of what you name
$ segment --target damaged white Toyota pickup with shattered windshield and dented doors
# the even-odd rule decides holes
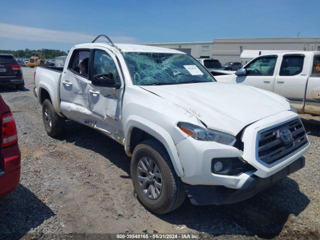
[[[174,49],[108,40],[75,45],[63,68],[37,67],[34,94],[48,135],[71,119],[124,146],[149,210],[171,211],[186,194],[241,201],[304,166],[309,142],[282,96],[216,82]]]

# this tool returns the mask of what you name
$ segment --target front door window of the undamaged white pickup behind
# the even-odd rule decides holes
[[[276,56],[259,57],[246,66],[247,75],[272,76],[276,63]]]

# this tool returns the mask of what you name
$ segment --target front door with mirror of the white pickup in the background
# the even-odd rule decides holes
[[[253,59],[244,67],[247,75],[236,76],[235,82],[273,91],[277,58],[277,55],[266,55]]]

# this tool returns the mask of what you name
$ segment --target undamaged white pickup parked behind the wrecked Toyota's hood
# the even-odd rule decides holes
[[[299,113],[320,115],[320,51],[285,51],[255,57],[217,81],[251,85],[290,100]]]

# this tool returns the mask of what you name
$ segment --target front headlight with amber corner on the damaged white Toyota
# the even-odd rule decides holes
[[[189,136],[201,141],[216,141],[230,146],[233,146],[236,141],[236,138],[230,134],[206,129],[188,122],[179,122],[178,127]]]

